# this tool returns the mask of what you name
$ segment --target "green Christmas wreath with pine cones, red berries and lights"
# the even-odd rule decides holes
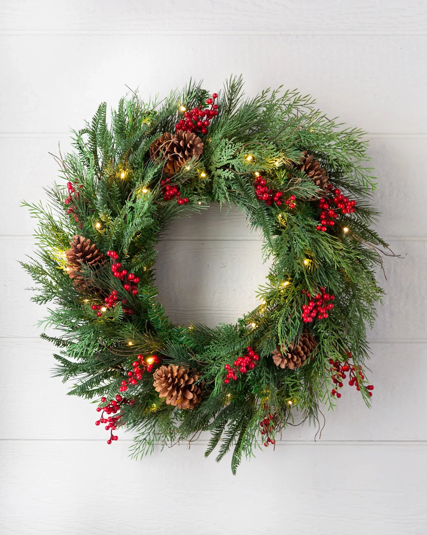
[[[135,430],[132,452],[211,433],[235,472],[294,422],[319,422],[345,382],[369,404],[364,363],[387,244],[370,225],[367,142],[297,91],[218,94],[200,83],[161,102],[101,104],[57,161],[61,182],[38,219],[37,257],[22,263],[32,298],[54,303],[42,334],[58,348],[69,394],[97,402],[108,444]],[[110,125],[108,124],[110,123]],[[262,232],[272,268],[259,306],[236,324],[175,325],[156,300],[156,243],[176,218],[234,204]],[[196,320],[197,318],[195,318]]]

